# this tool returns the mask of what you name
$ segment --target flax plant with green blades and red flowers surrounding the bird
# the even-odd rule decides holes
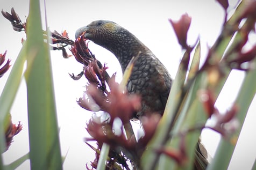
[[[92,116],[87,123],[86,129],[91,137],[85,138],[85,143],[95,151],[95,159],[90,165],[86,165],[87,169],[194,169],[193,163],[195,159],[199,159],[198,154],[195,154],[195,147],[200,143],[201,131],[204,128],[215,130],[222,136],[216,156],[207,169],[226,169],[256,92],[256,45],[246,51],[243,49],[248,35],[255,34],[256,2],[241,1],[230,18],[227,18],[228,1],[219,0],[218,3],[225,11],[222,31],[214,45],[209,47],[203,62],[200,40],[194,45],[187,43],[187,33],[192,21],[189,15],[183,14],[178,21],[169,20],[184,55],[165,112],[162,117],[152,114],[141,118],[145,135],[139,139],[135,138],[130,119],[140,108],[140,97],[127,94],[125,90],[136,56],[126,68],[122,83],[118,84],[115,74],[110,76],[108,67],[99,62],[90,51],[88,40],[83,35],[73,41],[69,39],[66,31],[54,31],[49,35],[47,31],[42,31],[38,1],[31,1],[29,17],[25,23],[22,23],[13,9],[11,14],[2,11],[15,31],[26,32],[27,39],[23,42],[23,48],[12,66],[0,97],[0,150],[6,150],[6,130],[3,129],[10,126],[10,107],[20,79],[25,76],[30,152],[10,165],[3,165],[1,157],[0,169],[14,169],[26,159],[30,159],[31,169],[62,168],[49,62],[50,48],[46,43],[48,39],[52,41],[52,50],[61,50],[62,56],[69,58],[72,56],[66,50],[69,46],[77,62],[83,64],[81,73],[76,76],[70,74],[74,80],[83,76],[88,80],[86,95],[77,100],[77,104],[91,112],[102,111],[107,115],[104,120],[102,117]],[[25,61],[27,68],[23,75]],[[200,62],[203,63],[201,66]],[[9,68],[8,64],[5,69]],[[225,113],[221,113],[215,102],[234,69],[244,71],[245,78],[234,104]],[[4,71],[0,72],[0,75],[3,73]],[[9,91],[11,93],[7,95]],[[215,119],[215,124],[205,125],[212,118]],[[114,130],[116,119],[121,122],[119,134]],[[21,128],[16,125],[9,131],[17,134]],[[90,141],[96,141],[97,146],[91,145]],[[200,162],[198,166],[202,165],[203,162]]]

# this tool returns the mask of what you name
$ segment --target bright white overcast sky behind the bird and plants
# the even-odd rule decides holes
[[[236,1],[230,1],[231,6]],[[1,9],[11,11],[14,7],[22,21],[25,20],[29,11],[28,0],[9,0],[0,2]],[[43,5],[41,5],[43,6]],[[177,43],[172,26],[168,18],[177,20],[183,13],[188,13],[192,17],[192,23],[188,32],[188,42],[194,44],[198,35],[201,38],[202,57],[207,53],[207,46],[211,46],[221,30],[224,12],[219,4],[214,0],[210,1],[47,1],[47,20],[51,31],[58,32],[67,30],[69,37],[74,40],[77,28],[89,24],[96,19],[107,19],[125,27],[136,35],[153,53],[159,57],[166,65],[172,77],[175,77],[177,66],[182,56],[182,51]],[[231,8],[230,8],[231,10]],[[42,11],[42,13],[44,13]],[[0,16],[0,53],[8,50],[7,58],[11,58],[14,63],[22,44],[24,33],[15,32],[11,28],[8,20]],[[251,38],[251,43],[255,44],[255,36]],[[89,43],[89,48],[99,61],[107,63],[110,75],[117,71],[119,79],[122,78],[119,63],[115,56],[109,51]],[[70,53],[71,54],[71,53]],[[51,53],[53,65],[53,77],[55,87],[55,99],[58,112],[60,130],[60,142],[62,155],[68,151],[67,159],[63,165],[64,169],[85,169],[86,162],[93,161],[94,152],[84,144],[83,138],[88,136],[86,122],[91,113],[80,108],[76,104],[76,99],[82,97],[86,79],[79,81],[72,80],[68,73],[79,73],[82,65],[77,63],[73,57],[68,60],[62,58],[61,51]],[[8,71],[9,73],[10,71]],[[8,74],[1,78],[0,91]],[[236,71],[232,73],[227,85],[221,94],[222,100],[217,101],[217,107],[223,112],[229,108],[236,98],[243,73]],[[250,169],[256,157],[256,136],[251,134],[256,129],[255,98],[247,115],[244,130],[239,139],[236,152],[232,158],[229,169]],[[27,132],[27,110],[26,110],[26,86],[23,80],[19,88],[15,103],[11,109],[14,123],[21,121],[23,130],[18,134],[10,146],[9,151],[4,153],[6,164],[16,160],[29,151],[29,138]],[[254,113],[254,114],[253,114]],[[202,141],[208,152],[214,156],[219,135],[204,131]],[[246,156],[246,157],[245,157]],[[29,161],[18,169],[27,169]]]

